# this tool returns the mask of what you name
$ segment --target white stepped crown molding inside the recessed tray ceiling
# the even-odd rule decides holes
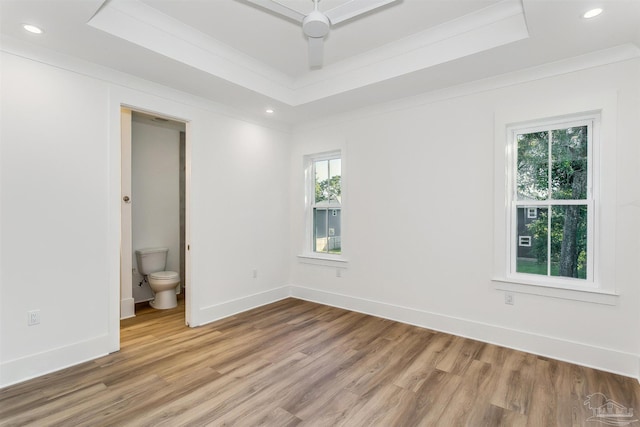
[[[112,0],[89,25],[288,106],[308,104],[529,37],[521,2],[504,0],[294,79],[139,0]]]

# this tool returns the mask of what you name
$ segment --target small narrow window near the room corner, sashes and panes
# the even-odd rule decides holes
[[[342,159],[340,152],[310,158],[312,188],[311,251],[319,254],[342,253]]]

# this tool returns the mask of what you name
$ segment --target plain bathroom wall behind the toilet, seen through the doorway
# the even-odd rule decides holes
[[[131,124],[131,200],[133,297],[153,299],[138,272],[135,250],[167,247],[167,270],[180,272],[180,131],[183,123],[156,122],[133,113]]]

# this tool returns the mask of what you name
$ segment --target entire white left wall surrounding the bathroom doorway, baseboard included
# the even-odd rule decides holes
[[[9,39],[2,48],[0,387],[119,348],[121,105],[188,122],[190,324],[286,294],[288,132]],[[28,327],[33,309],[41,324]]]

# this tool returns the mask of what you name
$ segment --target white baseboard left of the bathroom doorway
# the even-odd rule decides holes
[[[0,388],[78,365],[109,353],[108,335],[0,364]]]

